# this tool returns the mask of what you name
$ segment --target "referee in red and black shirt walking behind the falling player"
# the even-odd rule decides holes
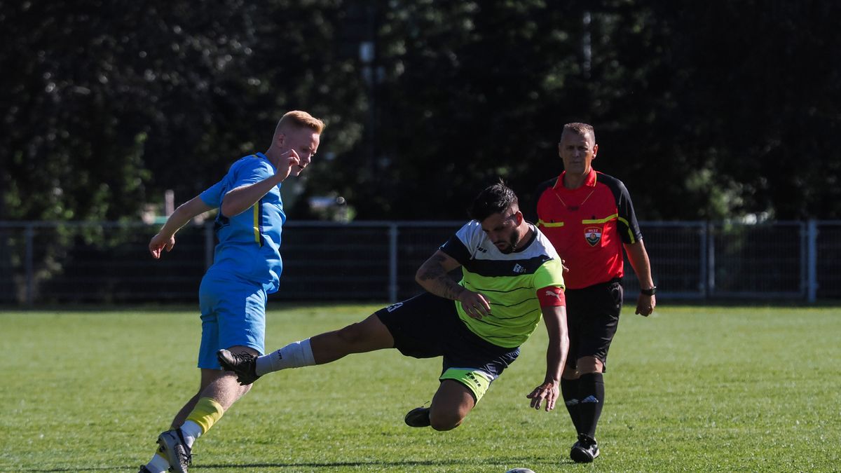
[[[591,166],[599,146],[592,125],[563,126],[558,154],[564,171],[537,189],[537,225],[563,258],[569,356],[561,377],[563,401],[578,432],[569,456],[599,456],[595,428],[605,401],[603,373],[622,306],[622,248],[642,288],[637,314],[656,306],[651,266],[625,184]]]

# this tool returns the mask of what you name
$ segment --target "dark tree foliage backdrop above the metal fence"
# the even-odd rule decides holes
[[[461,220],[562,171],[563,123],[640,218],[841,218],[841,3],[0,1],[0,220],[134,220],[328,129],[303,197]],[[368,48],[360,45],[368,44]],[[373,52],[360,55],[360,50]],[[312,216],[304,199],[295,218]]]

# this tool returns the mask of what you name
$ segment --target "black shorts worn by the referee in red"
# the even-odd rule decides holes
[[[584,289],[566,290],[569,354],[567,366],[575,369],[578,359],[593,356],[607,370],[607,350],[619,326],[622,283],[611,279]]]

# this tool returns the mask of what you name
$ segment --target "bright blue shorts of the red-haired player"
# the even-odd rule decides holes
[[[216,352],[243,345],[264,353],[267,294],[261,286],[202,279],[198,306],[202,313],[202,343],[198,368],[221,369]]]

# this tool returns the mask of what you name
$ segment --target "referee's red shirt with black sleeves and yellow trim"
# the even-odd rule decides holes
[[[622,243],[643,239],[625,184],[590,169],[578,189],[563,187],[563,174],[537,189],[537,226],[569,268],[567,289],[621,278]]]

